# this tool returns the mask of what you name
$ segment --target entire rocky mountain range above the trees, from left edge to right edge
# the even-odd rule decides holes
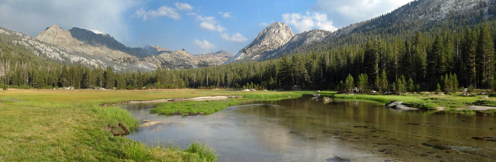
[[[56,25],[46,28],[36,39],[5,28],[1,28],[0,37],[33,50],[39,57],[61,63],[110,66],[117,71],[184,69],[264,61],[282,55],[326,52],[345,46],[361,47],[373,37],[412,36],[441,26],[450,28],[493,20],[495,15],[496,2],[493,0],[419,0],[334,32],[314,29],[295,34],[286,24],[275,22],[260,31],[253,42],[234,56],[224,50],[192,55],[184,49],[170,51],[158,45],[131,48],[109,34],[97,34],[77,27],[63,30]]]

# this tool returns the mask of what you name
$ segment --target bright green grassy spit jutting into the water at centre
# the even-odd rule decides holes
[[[310,94],[312,92],[235,92],[236,96],[242,98],[231,98],[225,100],[207,100],[207,101],[182,101],[182,102],[167,102],[158,105],[156,108],[151,109],[152,113],[159,113],[164,115],[191,115],[191,114],[210,114],[225,109],[228,106],[238,105],[247,101],[267,101],[267,100],[281,100],[288,98],[298,98],[303,94]]]

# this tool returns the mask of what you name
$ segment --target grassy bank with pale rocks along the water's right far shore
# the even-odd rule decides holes
[[[461,93],[449,94],[449,95],[431,95],[430,93],[424,92],[421,94],[404,94],[398,95],[380,95],[380,94],[337,94],[337,92],[322,92],[321,95],[331,96],[338,100],[366,100],[375,101],[380,103],[388,103],[391,101],[402,101],[405,102],[410,107],[416,107],[421,109],[436,110],[443,107],[447,111],[456,111],[456,109],[464,109],[472,105],[496,105],[496,99],[494,97],[489,97],[488,99],[480,99],[480,97],[485,95],[477,96],[462,96]],[[460,112],[470,112],[470,109],[461,110]],[[490,111],[492,112],[492,111]]]

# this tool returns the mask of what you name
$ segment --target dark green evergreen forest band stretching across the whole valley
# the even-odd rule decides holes
[[[494,22],[436,28],[325,52],[204,68],[117,73],[110,67],[59,65],[0,42],[0,81],[12,87],[75,89],[255,88],[351,92],[453,92],[458,86],[496,89]],[[353,79],[356,78],[356,79]],[[438,86],[440,85],[440,86]]]

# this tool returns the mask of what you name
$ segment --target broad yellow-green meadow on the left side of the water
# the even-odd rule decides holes
[[[103,103],[201,96],[286,96],[292,92],[214,90],[0,91],[0,161],[205,161],[211,153],[148,147],[113,136],[109,126],[136,128],[129,112]],[[271,94],[271,95],[268,95]],[[195,147],[200,147],[197,145]],[[188,151],[190,150],[190,151]],[[209,155],[210,154],[210,155]],[[146,158],[143,158],[146,157]]]

